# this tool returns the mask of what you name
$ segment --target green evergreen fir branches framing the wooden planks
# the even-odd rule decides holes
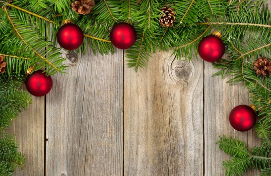
[[[271,13],[266,0],[97,0],[90,15],[72,11],[70,0],[0,0],[0,55],[5,56],[6,72],[0,74],[0,175],[11,175],[21,167],[24,157],[17,151],[14,138],[4,134],[22,108],[31,103],[20,90],[26,70],[45,69],[47,75],[63,73],[61,50],[56,33],[63,20],[70,19],[84,31],[85,40],[78,49],[83,54],[114,52],[109,34],[114,24],[126,22],[137,31],[137,41],[126,50],[127,65],[138,71],[147,66],[152,53],[173,50],[177,58],[190,60],[197,55],[202,37],[213,30],[223,34],[226,56],[214,63],[215,75],[231,75],[229,83],[244,82],[260,120],[255,130],[261,145],[249,151],[238,139],[221,136],[220,149],[232,155],[223,162],[226,175],[241,175],[249,167],[260,175],[271,175],[271,79],[257,76],[253,62],[261,56],[270,59]],[[172,28],[159,24],[160,9],[174,9]],[[151,65],[150,65],[151,66]],[[8,108],[9,107],[9,108]]]

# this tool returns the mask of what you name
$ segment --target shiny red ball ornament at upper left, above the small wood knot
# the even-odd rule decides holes
[[[72,23],[64,24],[56,34],[58,44],[67,50],[74,50],[81,46],[84,40],[82,29]]]

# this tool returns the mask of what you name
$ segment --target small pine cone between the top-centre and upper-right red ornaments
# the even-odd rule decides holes
[[[172,8],[163,7],[161,9],[162,13],[160,14],[159,22],[163,27],[172,27],[175,21],[175,13]]]

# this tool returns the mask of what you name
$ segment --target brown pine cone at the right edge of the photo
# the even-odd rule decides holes
[[[254,62],[253,69],[256,71],[257,75],[269,75],[271,73],[271,61],[266,57],[260,57]]]

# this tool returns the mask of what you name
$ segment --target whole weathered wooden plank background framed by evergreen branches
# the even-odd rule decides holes
[[[122,50],[74,55],[10,128],[26,155],[15,175],[223,175],[229,156],[219,135],[260,142],[254,129],[238,132],[228,121],[232,108],[249,104],[245,87],[212,77],[209,62],[160,52],[135,73]]]

